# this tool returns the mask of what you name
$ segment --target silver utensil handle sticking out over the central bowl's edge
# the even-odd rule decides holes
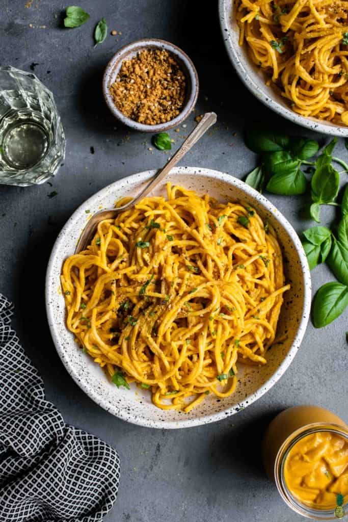
[[[195,143],[197,143],[199,138],[201,138],[203,134],[205,134],[205,132],[207,132],[208,129],[214,125],[214,123],[216,123],[216,121],[217,115],[214,112],[206,112],[201,121],[198,123],[197,127],[195,127],[191,134],[187,136],[182,146],[178,148],[173,157],[164,165],[163,169],[160,169],[158,172],[156,172],[151,181],[146,185],[145,188],[142,189],[140,194],[138,194],[131,201],[131,206],[138,203],[138,201],[140,201],[140,199],[143,197],[146,197],[152,191],[152,189],[163,180],[169,171],[175,167],[177,162],[185,156],[186,152],[188,152],[190,148],[193,147]]]

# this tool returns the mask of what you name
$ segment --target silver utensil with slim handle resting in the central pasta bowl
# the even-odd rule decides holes
[[[134,207],[136,203],[143,197],[147,196],[152,189],[163,180],[163,178],[169,173],[169,171],[175,167],[176,163],[181,160],[186,152],[190,150],[191,147],[197,143],[199,138],[203,136],[203,134],[208,131],[208,129],[214,125],[217,121],[217,115],[214,112],[207,112],[197,125],[194,130],[189,134],[189,136],[185,139],[184,143],[178,150],[175,152],[174,156],[164,165],[163,169],[160,169],[155,175],[151,178],[150,182],[146,185],[145,188],[129,203],[122,205],[122,207],[110,208],[108,210],[101,210],[100,212],[96,212],[91,219],[89,219],[86,227],[82,230],[80,235],[80,239],[77,243],[75,254],[78,254],[82,250],[86,250],[87,246],[92,241],[92,238],[95,234],[95,230],[98,227],[100,221],[104,219],[115,219],[119,212],[123,212],[131,207]]]

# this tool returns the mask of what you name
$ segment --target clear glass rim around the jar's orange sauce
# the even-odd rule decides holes
[[[329,431],[334,432],[342,437],[344,437],[348,442],[348,426],[341,426],[339,424],[334,423],[325,423],[325,422],[315,422],[311,424],[306,424],[294,431],[289,435],[277,453],[277,457],[275,458],[274,463],[274,480],[277,485],[278,492],[282,497],[283,501],[291,508],[293,511],[299,515],[302,515],[307,518],[311,518],[314,520],[335,520],[337,517],[335,516],[335,508],[330,509],[315,509],[305,504],[301,504],[299,501],[295,499],[295,497],[291,494],[289,488],[287,488],[284,480],[284,464],[287,455],[289,455],[290,449],[302,438],[307,435],[311,435],[313,433],[319,431]],[[348,508],[348,501],[345,502],[344,508]],[[344,513],[342,518],[348,516],[348,509]]]

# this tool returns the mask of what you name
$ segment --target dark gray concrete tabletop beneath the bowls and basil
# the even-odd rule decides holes
[[[122,45],[142,37],[164,38],[181,46],[196,64],[201,86],[196,114],[213,110],[219,123],[186,156],[187,165],[242,178],[256,164],[255,155],[243,144],[243,130],[253,121],[293,134],[308,133],[271,113],[238,80],[224,50],[216,2],[81,0],[78,5],[90,13],[90,21],[79,29],[63,29],[64,4],[34,0],[26,8],[26,1],[1,2],[0,64],[25,70],[37,64],[35,74],[52,89],[61,113],[67,154],[51,180],[53,187],[0,186],[0,291],[15,302],[18,334],[43,376],[47,397],[67,422],[102,437],[121,455],[121,488],[106,520],[302,520],[283,504],[266,479],[260,464],[260,438],[268,421],[287,406],[318,404],[348,420],[346,313],[323,330],[310,324],[290,369],[246,410],[199,428],[157,431],[110,416],[68,376],[46,324],[44,276],[58,231],[83,200],[120,177],[158,168],[167,156],[149,151],[150,136],[127,131],[104,106],[101,75]],[[93,49],[94,24],[102,16],[110,30],[122,35],[109,34]],[[175,146],[194,126],[194,116],[188,118],[185,129],[171,133]],[[328,140],[312,136],[321,144]],[[336,155],[348,160],[342,140]],[[341,175],[342,183],[345,177]],[[58,194],[50,199],[47,194],[53,190]],[[309,226],[306,198],[270,199],[298,232]],[[330,223],[334,209],[325,209],[323,216],[323,222]],[[317,268],[314,290],[331,277],[326,267]]]

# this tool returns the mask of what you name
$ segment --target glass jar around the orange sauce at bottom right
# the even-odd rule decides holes
[[[317,406],[295,406],[279,413],[269,424],[262,442],[263,464],[286,504],[298,514],[315,520],[334,520],[348,515],[347,503],[340,509],[308,507],[294,497],[286,485],[284,466],[290,449],[301,438],[329,431],[348,442],[348,427],[334,413]]]

